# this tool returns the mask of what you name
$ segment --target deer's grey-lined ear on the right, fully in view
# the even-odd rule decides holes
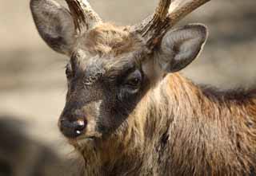
[[[158,63],[165,72],[178,72],[189,65],[206,43],[204,25],[185,25],[172,30],[162,38]]]

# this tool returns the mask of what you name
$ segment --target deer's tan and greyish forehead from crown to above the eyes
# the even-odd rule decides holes
[[[146,47],[139,37],[126,27],[98,25],[78,38],[77,50],[71,62],[86,69],[88,74],[133,65],[146,55]]]

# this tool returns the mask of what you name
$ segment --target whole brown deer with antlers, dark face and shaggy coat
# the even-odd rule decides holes
[[[174,26],[210,0],[159,0],[139,24],[103,22],[86,0],[30,0],[38,33],[70,57],[59,130],[82,175],[255,175],[256,90],[196,84],[180,71],[208,29]]]

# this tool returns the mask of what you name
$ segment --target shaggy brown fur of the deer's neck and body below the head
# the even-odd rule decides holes
[[[84,156],[85,175],[249,175],[256,168],[256,94],[214,92],[172,74]],[[120,127],[122,129],[122,127]]]

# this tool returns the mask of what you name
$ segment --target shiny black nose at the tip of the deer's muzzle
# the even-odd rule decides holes
[[[86,128],[86,120],[76,120],[70,121],[68,119],[60,120],[60,130],[62,134],[67,138],[76,138],[82,135],[84,129]]]

